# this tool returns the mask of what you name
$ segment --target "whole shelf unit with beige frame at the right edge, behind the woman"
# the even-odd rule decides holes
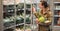
[[[60,0],[53,0],[53,30],[60,31]]]

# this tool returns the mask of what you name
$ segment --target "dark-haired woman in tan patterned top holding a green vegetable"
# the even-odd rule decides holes
[[[40,13],[36,12],[35,8],[33,7],[33,13],[36,16],[36,23],[38,24],[38,31],[48,31],[47,29],[49,28],[50,24],[51,24],[51,17],[52,17],[52,13],[49,9],[49,5],[47,4],[46,1],[40,1],[39,3],[39,7],[40,7]],[[44,23],[44,25],[41,24],[41,22],[38,19],[39,15],[43,15],[46,18],[46,21]],[[47,22],[49,21],[49,22]]]

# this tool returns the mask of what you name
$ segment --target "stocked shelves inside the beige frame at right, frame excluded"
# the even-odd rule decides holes
[[[54,2],[54,25],[60,26],[60,2]]]

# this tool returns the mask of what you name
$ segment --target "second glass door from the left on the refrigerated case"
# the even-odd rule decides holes
[[[17,2],[18,1],[18,2]],[[22,2],[23,1],[23,2]],[[16,31],[24,31],[24,0],[16,0]]]

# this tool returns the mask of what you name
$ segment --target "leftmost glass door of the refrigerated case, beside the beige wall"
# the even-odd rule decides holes
[[[14,31],[16,26],[14,0],[3,0],[3,22],[4,31]]]

